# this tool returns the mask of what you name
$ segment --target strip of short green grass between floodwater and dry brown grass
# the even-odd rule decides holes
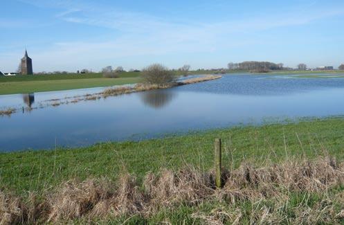
[[[10,188],[22,195],[26,191],[42,191],[75,177],[116,179],[123,168],[141,178],[149,171],[176,169],[185,164],[208,170],[213,164],[215,138],[223,140],[224,165],[228,167],[236,167],[244,160],[254,160],[255,163],[266,159],[280,161],[286,153],[314,158],[328,152],[344,159],[343,127],[344,119],[330,118],[286,125],[215,129],[185,136],[100,143],[75,149],[1,153],[0,189]]]

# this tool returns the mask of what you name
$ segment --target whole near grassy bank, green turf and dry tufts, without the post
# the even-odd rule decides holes
[[[329,118],[216,129],[140,142],[101,143],[71,150],[3,153],[0,190],[22,196],[24,201],[32,196],[29,192],[38,201],[48,196],[51,221],[86,222],[91,217],[101,222],[132,224],[339,223],[344,217],[343,170],[337,168],[339,164],[320,161],[301,165],[295,161],[327,154],[343,161],[343,127],[342,118]],[[230,177],[223,192],[213,192],[200,174],[211,170],[213,141],[219,137],[224,144],[223,165],[238,177]],[[242,163],[244,166],[237,169]],[[161,172],[162,168],[178,171],[186,165],[198,172]],[[144,179],[147,172],[159,171],[161,179]],[[137,177],[137,182],[123,175],[127,173]],[[106,186],[101,177],[110,183],[122,179],[116,185]],[[92,178],[97,180],[78,183]],[[60,186],[75,179],[76,183]],[[118,190],[117,194],[111,194],[111,187]],[[141,195],[143,190],[150,195]],[[150,201],[143,203],[147,199]],[[98,204],[93,205],[94,202]],[[33,204],[32,199],[27,204]],[[147,211],[147,206],[155,208]]]

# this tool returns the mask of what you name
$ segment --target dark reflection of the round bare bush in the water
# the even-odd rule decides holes
[[[141,93],[143,103],[156,109],[165,107],[174,97],[176,97],[176,92],[170,89],[143,91]]]

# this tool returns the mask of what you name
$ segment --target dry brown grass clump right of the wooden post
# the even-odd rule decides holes
[[[343,181],[344,174],[336,161],[322,158],[316,161],[287,161],[264,168],[243,164],[230,174],[226,186],[265,188],[271,191],[278,187],[290,191],[319,192]]]

